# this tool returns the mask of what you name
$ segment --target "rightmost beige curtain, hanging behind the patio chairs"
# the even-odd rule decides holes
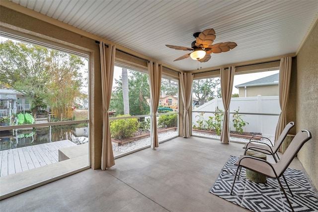
[[[282,133],[283,129],[286,126],[286,107],[289,97],[289,87],[290,87],[290,76],[292,72],[292,58],[285,57],[280,60],[279,65],[279,106],[281,108],[281,113],[279,115],[278,123],[276,126],[275,132],[275,141]],[[280,150],[281,151],[281,147]]]

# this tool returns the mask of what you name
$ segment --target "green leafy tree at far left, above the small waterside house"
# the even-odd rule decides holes
[[[50,75],[46,71],[48,50],[11,40],[0,43],[0,81],[30,98],[32,112],[46,107]]]

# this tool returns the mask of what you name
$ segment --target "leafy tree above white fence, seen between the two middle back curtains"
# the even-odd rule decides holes
[[[200,105],[221,97],[220,78],[207,78],[193,81],[192,92]]]

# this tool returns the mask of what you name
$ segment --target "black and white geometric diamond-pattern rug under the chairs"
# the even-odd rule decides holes
[[[254,212],[291,212],[289,204],[276,179],[267,178],[265,184],[246,179],[242,168],[239,180],[235,182],[230,195],[238,157],[231,156],[223,167],[210,193]],[[285,181],[281,183],[295,212],[318,212],[318,195],[302,171],[288,168],[284,173],[294,197]]]

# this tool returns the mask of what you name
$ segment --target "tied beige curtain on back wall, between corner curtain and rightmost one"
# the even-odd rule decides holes
[[[229,143],[230,127],[229,127],[229,107],[231,103],[233,81],[234,81],[235,67],[229,67],[225,70],[221,68],[221,94],[224,106],[224,119],[221,132],[221,142]]]

